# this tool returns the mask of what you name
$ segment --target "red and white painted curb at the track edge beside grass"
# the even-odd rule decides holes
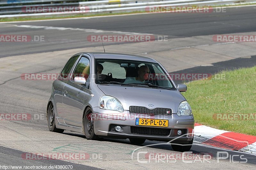
[[[219,148],[256,153],[256,136],[195,124],[194,141]]]

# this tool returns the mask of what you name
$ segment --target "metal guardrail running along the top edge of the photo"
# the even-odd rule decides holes
[[[72,2],[74,1],[74,2]],[[139,2],[138,2],[139,1]],[[146,2],[143,2],[146,1]],[[47,4],[51,2],[51,4]],[[70,3],[71,2],[71,3]],[[232,3],[233,2],[233,3]],[[115,11],[145,11],[147,7],[163,7],[163,6],[186,6],[186,5],[221,5],[232,3],[237,4],[256,4],[253,0],[100,0],[100,1],[77,1],[77,0],[33,0],[20,1],[8,0],[0,1],[0,18],[8,17],[29,17],[29,16],[48,16],[48,15],[63,15],[77,13],[97,13],[97,12],[115,12]],[[26,8],[38,9],[45,8],[46,12],[26,11]],[[49,8],[54,9],[54,12],[47,11]],[[58,12],[56,9],[74,8],[73,11]]]

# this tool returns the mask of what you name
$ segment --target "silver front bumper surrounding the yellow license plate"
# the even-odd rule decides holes
[[[193,116],[155,115],[130,113],[128,110],[120,113],[113,110],[93,108],[94,131],[98,136],[108,136],[113,138],[145,138],[148,140],[170,141],[186,143],[191,141],[194,132]],[[136,118],[165,119],[169,121],[168,127],[142,126],[135,125]],[[113,127],[119,125],[122,132],[113,130]],[[134,130],[135,129],[135,130]],[[152,131],[159,131],[159,133]],[[184,132],[181,136],[177,135],[177,130]]]

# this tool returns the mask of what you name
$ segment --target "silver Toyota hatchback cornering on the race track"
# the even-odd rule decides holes
[[[194,117],[180,92],[154,59],[118,53],[77,53],[52,84],[46,117],[50,131],[87,139],[172,141],[174,151],[193,143]]]

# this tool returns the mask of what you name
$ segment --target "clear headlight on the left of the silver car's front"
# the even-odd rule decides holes
[[[124,108],[122,104],[115,97],[112,96],[102,96],[100,98],[100,108],[108,110],[117,110],[123,112]]]

